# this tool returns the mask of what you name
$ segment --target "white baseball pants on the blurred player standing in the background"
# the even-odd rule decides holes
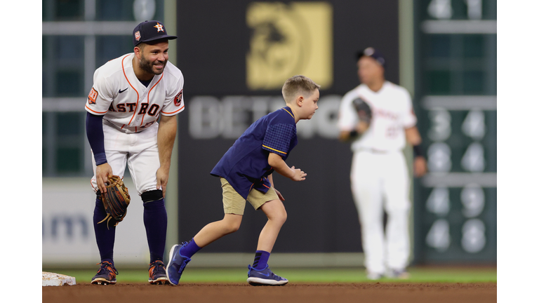
[[[387,269],[405,269],[410,255],[410,201],[404,154],[354,152],[350,180],[359,212],[367,271],[384,274]],[[385,234],[384,209],[387,213]]]

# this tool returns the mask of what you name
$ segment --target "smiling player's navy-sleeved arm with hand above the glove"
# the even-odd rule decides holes
[[[86,113],[86,137],[93,152],[95,160],[95,182],[98,183],[98,189],[105,193],[107,187],[105,182],[109,180],[108,176],[112,174],[112,168],[107,163],[105,155],[105,135],[103,134],[103,116]]]

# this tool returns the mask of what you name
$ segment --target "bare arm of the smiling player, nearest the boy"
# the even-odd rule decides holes
[[[176,139],[177,122],[176,116],[163,116],[159,121],[157,130],[157,149],[159,150],[159,169],[157,169],[157,189],[163,190],[163,197],[166,193],[168,183],[168,173],[171,170],[171,155]]]

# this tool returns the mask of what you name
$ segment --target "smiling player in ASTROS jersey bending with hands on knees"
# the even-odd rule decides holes
[[[168,62],[168,40],[176,38],[166,34],[162,22],[142,22],[133,30],[133,53],[110,60],[93,76],[85,106],[93,153],[91,185],[97,194],[93,222],[101,257],[93,284],[116,283],[116,227],[98,224],[106,216],[100,193],[107,190],[107,175],[124,177],[126,164],[144,203],[149,283],[168,281],[163,263],[164,197],[177,128],[175,115],[185,109],[182,72]]]

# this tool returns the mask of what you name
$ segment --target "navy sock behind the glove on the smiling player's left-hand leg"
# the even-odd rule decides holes
[[[114,265],[112,257],[114,255],[114,236],[116,235],[116,227],[109,226],[107,228],[106,221],[98,224],[98,222],[105,217],[107,217],[105,206],[103,206],[101,198],[96,198],[95,208],[93,209],[93,231],[95,231],[95,240],[98,243],[99,255],[101,257],[101,262],[108,261]]]

